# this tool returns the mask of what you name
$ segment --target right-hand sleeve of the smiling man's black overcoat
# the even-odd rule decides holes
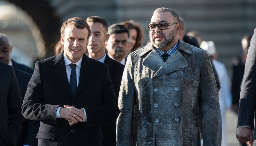
[[[104,81],[101,88],[100,106],[85,107],[84,109],[87,115],[87,121],[84,127],[88,127],[89,125],[102,125],[117,119],[119,109],[112,81],[108,72],[108,65],[105,67]]]

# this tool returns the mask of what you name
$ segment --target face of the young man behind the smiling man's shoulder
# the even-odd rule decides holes
[[[89,38],[89,43],[87,49],[89,51],[89,55],[97,54],[103,52],[105,54],[105,42],[108,41],[109,35],[107,34],[105,28],[102,24],[96,22],[88,22],[88,25],[91,28],[91,36]]]

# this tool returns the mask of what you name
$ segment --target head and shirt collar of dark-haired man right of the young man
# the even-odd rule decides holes
[[[125,65],[125,53],[128,50],[129,30],[119,24],[108,27],[109,39],[105,42],[108,56],[117,62]]]

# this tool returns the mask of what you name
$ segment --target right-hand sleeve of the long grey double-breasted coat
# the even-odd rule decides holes
[[[204,51],[200,74],[200,93],[204,116],[204,146],[221,145],[221,112],[218,88],[208,53]]]

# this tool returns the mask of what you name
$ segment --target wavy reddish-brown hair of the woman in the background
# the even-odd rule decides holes
[[[131,51],[133,52],[137,50],[142,45],[142,42],[144,41],[144,29],[140,26],[139,23],[136,23],[133,20],[125,21],[125,22],[122,22],[121,24],[127,27],[128,30],[136,29],[137,31],[136,43]]]

